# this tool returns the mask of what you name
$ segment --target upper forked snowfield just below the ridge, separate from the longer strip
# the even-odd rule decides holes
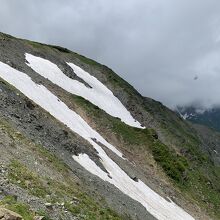
[[[80,67],[73,63],[67,63],[76,75],[88,83],[92,88],[88,88],[83,83],[69,78],[57,65],[48,60],[28,53],[25,55],[28,61],[27,65],[41,76],[49,79],[64,90],[87,99],[108,114],[120,118],[124,123],[133,127],[143,128],[140,123],[131,116],[130,112],[124,107],[119,99],[113,95],[111,90]]]

